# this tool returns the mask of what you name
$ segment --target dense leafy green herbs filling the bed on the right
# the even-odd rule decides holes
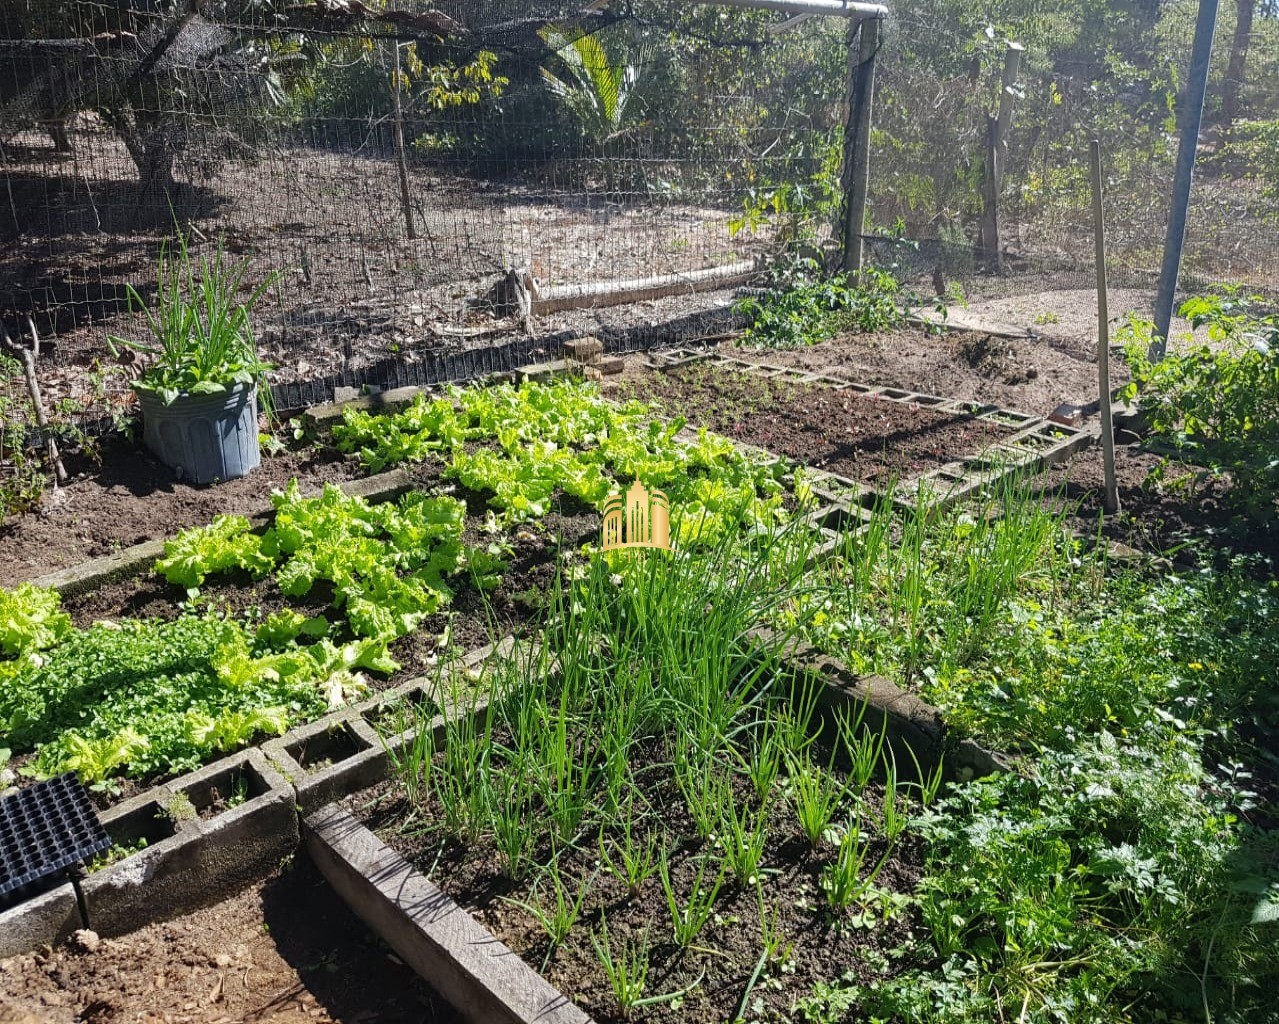
[[[1244,559],[1110,565],[1063,527],[1016,486],[880,510],[796,605],[820,646],[1017,756],[912,825],[930,937],[908,946],[935,966],[845,979],[811,1019],[1265,1019],[1279,584]]]

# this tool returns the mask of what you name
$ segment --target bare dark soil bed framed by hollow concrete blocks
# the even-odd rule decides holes
[[[646,375],[625,390],[670,417],[866,483],[913,477],[1010,433],[971,415],[706,364]]]

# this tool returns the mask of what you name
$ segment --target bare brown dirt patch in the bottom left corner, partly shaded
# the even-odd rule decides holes
[[[308,860],[122,938],[0,960],[4,1024],[455,1024]]]

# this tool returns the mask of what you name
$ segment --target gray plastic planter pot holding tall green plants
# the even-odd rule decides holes
[[[257,444],[257,387],[237,384],[216,395],[179,395],[165,405],[139,390],[142,440],[188,483],[243,477],[262,462]]]

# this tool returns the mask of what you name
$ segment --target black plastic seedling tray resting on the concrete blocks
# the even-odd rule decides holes
[[[60,775],[0,800],[0,905],[35,895],[111,845],[79,780]]]

